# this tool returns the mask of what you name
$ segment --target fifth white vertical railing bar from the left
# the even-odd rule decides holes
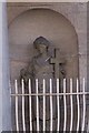
[[[46,94],[46,80],[43,79],[43,94]],[[46,95],[43,95],[43,132],[46,131]]]

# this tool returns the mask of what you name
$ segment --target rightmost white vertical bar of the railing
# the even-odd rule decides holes
[[[85,120],[86,120],[86,95],[85,95],[85,79],[83,79],[83,83],[82,83],[82,90],[83,90],[83,114],[82,114],[82,127],[81,131],[85,131]]]

